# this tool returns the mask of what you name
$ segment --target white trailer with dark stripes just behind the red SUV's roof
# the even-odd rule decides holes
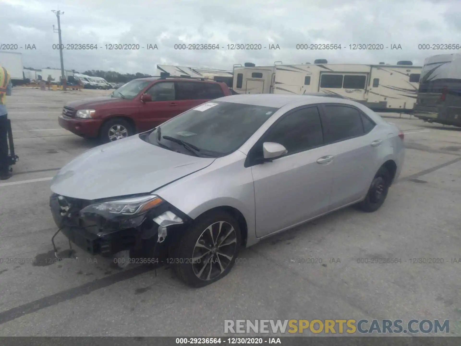
[[[167,72],[170,73],[170,76],[211,79],[216,82],[224,82],[229,87],[232,86],[232,71],[228,70],[219,70],[211,67],[185,67],[173,65],[157,65],[157,70],[159,75],[162,72]]]

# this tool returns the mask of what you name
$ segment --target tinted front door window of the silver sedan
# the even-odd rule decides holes
[[[264,142],[282,144],[288,150],[288,154],[323,144],[322,124],[317,107],[296,110],[269,131],[264,137]]]

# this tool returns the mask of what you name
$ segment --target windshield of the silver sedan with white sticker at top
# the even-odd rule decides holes
[[[160,125],[146,140],[183,149],[184,146],[177,143],[180,140],[195,148],[198,156],[224,156],[240,148],[277,110],[234,102],[208,102]],[[165,139],[168,137],[170,139]],[[187,149],[182,152],[191,154]]]

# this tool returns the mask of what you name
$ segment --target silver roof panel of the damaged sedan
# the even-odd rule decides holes
[[[220,97],[216,101],[242,103],[254,106],[281,108],[288,104],[313,103],[347,103],[355,104],[348,99],[325,97],[323,95],[287,95],[287,94],[240,94]]]

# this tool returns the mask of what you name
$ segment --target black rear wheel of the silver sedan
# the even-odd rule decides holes
[[[357,204],[358,209],[368,213],[378,210],[387,197],[390,181],[390,173],[387,168],[379,168],[368,189],[365,199]]]

